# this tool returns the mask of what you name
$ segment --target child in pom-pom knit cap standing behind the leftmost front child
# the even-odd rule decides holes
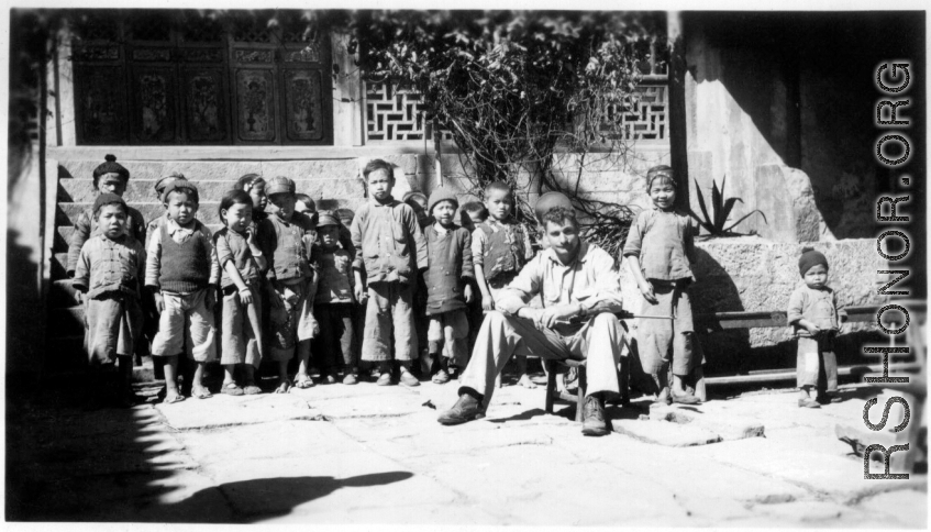
[[[101,193],[114,193],[122,198],[130,181],[130,170],[117,163],[114,155],[108,154],[104,162],[93,169],[93,188]],[[132,207],[126,207],[128,219],[125,231],[140,242],[145,242],[145,219],[142,213]],[[75,232],[68,244],[68,265],[66,267],[69,277],[75,276],[75,267],[81,253],[81,247],[87,240],[98,233],[97,219],[93,209],[87,210],[78,217],[75,222]]]

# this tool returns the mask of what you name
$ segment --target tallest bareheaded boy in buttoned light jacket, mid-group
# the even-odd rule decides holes
[[[363,270],[368,280],[362,359],[378,363],[379,386],[392,384],[392,358],[400,363],[401,384],[418,386],[420,381],[409,367],[418,352],[411,284],[417,282],[418,270],[426,269],[426,241],[413,209],[391,197],[391,165],[374,159],[365,166],[363,176],[370,200],[359,208],[352,226],[355,292],[359,301],[366,295]]]

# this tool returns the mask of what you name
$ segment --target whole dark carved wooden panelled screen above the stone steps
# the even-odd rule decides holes
[[[333,143],[330,35],[299,12],[75,19],[78,144]]]

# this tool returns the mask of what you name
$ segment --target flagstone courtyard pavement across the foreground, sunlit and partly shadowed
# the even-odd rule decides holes
[[[32,401],[8,419],[7,518],[927,525],[926,476],[863,480],[833,434],[861,426],[865,389],[821,410],[785,390],[653,412],[635,400],[610,408],[618,433],[600,439],[581,436],[570,406],[547,415],[542,389],[513,386],[486,419],[440,425],[455,391],[363,383],[91,411]]]

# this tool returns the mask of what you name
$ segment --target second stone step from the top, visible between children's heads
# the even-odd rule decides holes
[[[355,178],[292,178],[298,192],[306,193],[314,200],[320,198],[362,198],[365,193],[363,184]],[[219,201],[235,185],[235,179],[191,179],[200,193],[200,200]],[[123,199],[129,203],[159,202],[155,195],[156,179],[131,178],[126,184]],[[60,179],[58,187],[59,202],[93,203],[97,189],[91,179]]]

